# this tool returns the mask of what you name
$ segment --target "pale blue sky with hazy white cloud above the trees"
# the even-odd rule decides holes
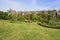
[[[37,11],[60,9],[60,0],[0,0],[0,10]]]

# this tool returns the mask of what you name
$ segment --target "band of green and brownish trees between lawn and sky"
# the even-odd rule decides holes
[[[49,23],[51,20],[60,19],[60,15],[56,10],[48,11],[26,11],[24,15],[18,12],[3,12],[0,11],[0,19],[12,21],[40,21]]]

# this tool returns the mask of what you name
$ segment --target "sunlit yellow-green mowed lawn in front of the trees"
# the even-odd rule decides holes
[[[60,29],[45,28],[36,22],[0,20],[0,40],[60,40]]]

